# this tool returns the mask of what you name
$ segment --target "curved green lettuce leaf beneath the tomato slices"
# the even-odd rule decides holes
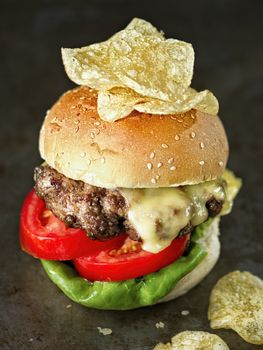
[[[96,309],[128,310],[155,304],[205,256],[202,246],[193,243],[187,256],[155,273],[121,282],[90,282],[63,262],[41,262],[49,278],[76,303]]]

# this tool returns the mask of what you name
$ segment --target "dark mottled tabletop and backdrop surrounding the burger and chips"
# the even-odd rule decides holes
[[[182,330],[209,331],[208,296],[218,278],[236,269],[263,277],[263,2],[1,1],[0,6],[0,349],[146,350]],[[222,220],[221,259],[198,287],[163,305],[97,311],[73,305],[39,262],[19,250],[19,210],[41,161],[37,140],[45,112],[73,86],[60,48],[105,40],[134,16],[193,44],[193,86],[218,97],[229,167],[244,185],[232,214]],[[182,310],[190,315],[182,316]],[[159,321],[163,329],[156,329]],[[97,326],[113,334],[104,337]],[[232,331],[215,333],[231,349],[263,348]]]

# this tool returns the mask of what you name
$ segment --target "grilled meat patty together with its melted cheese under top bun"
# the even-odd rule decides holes
[[[69,179],[48,165],[35,171],[35,190],[47,207],[71,227],[105,240],[126,231],[157,253],[179,233],[221,212],[224,180],[179,188],[105,189]]]

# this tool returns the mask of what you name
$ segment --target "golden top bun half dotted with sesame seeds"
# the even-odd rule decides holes
[[[176,115],[132,112],[114,123],[100,119],[97,93],[65,93],[40,133],[42,158],[65,176],[112,187],[167,187],[219,177],[228,143],[217,116],[196,110]]]

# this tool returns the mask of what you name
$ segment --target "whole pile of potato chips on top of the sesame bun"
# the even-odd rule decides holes
[[[114,121],[139,112],[175,114],[191,108],[217,114],[215,96],[190,88],[192,45],[165,39],[150,23],[134,18],[107,41],[62,49],[69,78],[98,90],[98,112]]]

